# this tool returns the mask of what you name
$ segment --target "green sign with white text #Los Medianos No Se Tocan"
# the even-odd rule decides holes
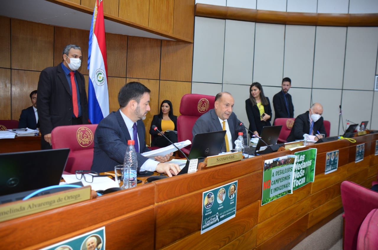
[[[314,182],[317,151],[316,148],[311,148],[294,153],[293,191]]]

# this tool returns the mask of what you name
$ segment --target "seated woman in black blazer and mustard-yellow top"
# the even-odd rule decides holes
[[[150,134],[152,136],[151,147],[166,147],[170,145],[170,142],[164,138],[158,131],[152,129],[152,126],[158,127],[166,137],[168,137],[173,143],[177,142],[177,116],[173,115],[172,102],[170,100],[164,100],[160,105],[160,112],[153,116]]]

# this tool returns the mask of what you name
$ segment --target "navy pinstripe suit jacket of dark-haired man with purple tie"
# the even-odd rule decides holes
[[[121,116],[120,110],[110,113],[101,120],[95,131],[95,147],[93,152],[93,162],[91,170],[98,173],[114,171],[116,165],[123,164],[127,140],[131,140],[126,123]],[[146,147],[146,128],[142,120],[136,122],[139,137],[139,152],[150,151]],[[138,171],[148,159],[136,153],[138,159]]]

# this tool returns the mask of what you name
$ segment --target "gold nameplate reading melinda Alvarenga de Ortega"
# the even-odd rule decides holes
[[[0,222],[19,218],[57,207],[89,200],[91,186],[30,198],[26,201],[15,201],[0,205]]]

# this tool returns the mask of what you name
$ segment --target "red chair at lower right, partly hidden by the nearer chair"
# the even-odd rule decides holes
[[[378,193],[351,181],[341,183],[344,206],[344,250],[357,248],[358,231],[367,214],[378,208]]]

